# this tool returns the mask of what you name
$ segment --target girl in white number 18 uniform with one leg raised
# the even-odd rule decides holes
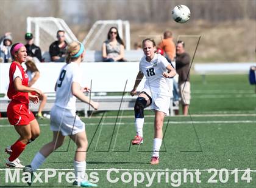
[[[140,71],[130,95],[133,96],[137,93],[137,87],[143,76],[146,77],[146,82],[134,106],[137,135],[132,140],[132,144],[143,144],[144,108],[151,105],[151,109],[155,111],[155,135],[151,164],[158,164],[159,150],[163,139],[163,120],[165,115],[169,114],[168,109],[172,96],[168,79],[176,75],[176,70],[165,57],[155,53],[153,39],[144,39],[142,46],[145,56],[141,58]]]

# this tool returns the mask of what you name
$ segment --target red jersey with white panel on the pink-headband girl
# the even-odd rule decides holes
[[[10,65],[10,70],[9,70],[9,88],[7,95],[9,99],[15,100],[24,104],[29,103],[29,93],[24,93],[24,92],[18,92],[15,90],[14,87],[14,79],[16,77],[20,77],[22,80],[23,86],[27,86],[29,82],[29,76],[27,76],[27,73],[24,71],[23,67],[18,62],[13,61],[12,64]]]

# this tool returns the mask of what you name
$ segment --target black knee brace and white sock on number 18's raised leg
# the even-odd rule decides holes
[[[144,124],[144,108],[147,106],[147,101],[143,97],[138,97],[135,106],[135,129],[137,136],[143,137],[143,124]]]

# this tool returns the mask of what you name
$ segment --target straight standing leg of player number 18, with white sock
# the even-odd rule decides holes
[[[160,147],[162,145],[162,139],[163,139],[163,120],[164,119],[165,119],[165,113],[155,110],[155,135],[154,135],[151,164],[159,163],[159,151],[160,151]]]

